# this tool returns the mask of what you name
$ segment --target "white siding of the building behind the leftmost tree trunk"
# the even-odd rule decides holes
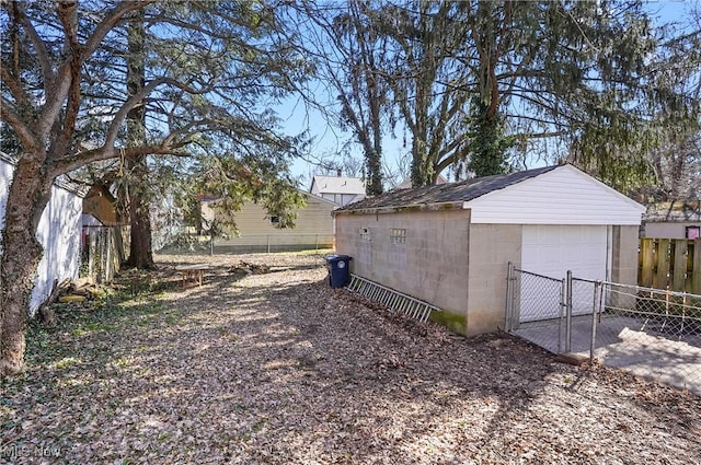
[[[0,229],[4,228],[4,212],[12,172],[12,164],[0,160]],[[30,301],[31,315],[51,292],[54,279],[60,281],[78,277],[81,213],[80,196],[60,187],[51,188],[51,198],[42,213],[36,233],[36,237],[44,246],[44,256],[39,261]]]

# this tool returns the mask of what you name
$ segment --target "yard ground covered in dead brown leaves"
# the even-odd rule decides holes
[[[0,385],[1,463],[700,461],[698,397],[394,316],[331,289],[320,256],[159,260],[31,328],[26,373]],[[206,283],[183,289],[195,261]]]

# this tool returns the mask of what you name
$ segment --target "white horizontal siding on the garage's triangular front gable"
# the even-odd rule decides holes
[[[563,165],[466,202],[473,224],[631,224],[645,207]]]

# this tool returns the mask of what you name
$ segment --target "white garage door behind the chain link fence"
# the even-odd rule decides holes
[[[577,278],[606,279],[607,226],[524,225],[521,269],[556,279],[572,270]],[[573,283],[573,314],[591,312],[591,286]],[[520,321],[555,318],[560,295],[538,289],[532,280],[521,280]]]

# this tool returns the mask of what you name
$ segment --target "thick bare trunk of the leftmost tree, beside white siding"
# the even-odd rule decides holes
[[[0,255],[0,376],[24,370],[27,309],[44,253],[35,234],[51,186],[39,175],[41,158],[18,164],[8,195]]]

